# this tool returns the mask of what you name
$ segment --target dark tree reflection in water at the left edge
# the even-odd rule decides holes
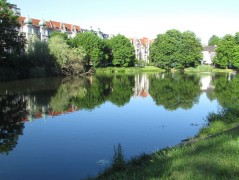
[[[20,95],[0,96],[0,153],[12,151],[23,134],[24,118],[27,117],[26,99]]]

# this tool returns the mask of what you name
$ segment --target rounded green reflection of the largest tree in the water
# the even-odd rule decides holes
[[[198,102],[201,93],[199,78],[180,74],[163,76],[151,76],[149,81],[149,93],[158,106],[169,110],[189,109]]]

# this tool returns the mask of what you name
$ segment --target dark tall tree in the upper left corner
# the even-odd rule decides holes
[[[6,0],[0,1],[0,58],[10,53],[20,54],[25,47],[25,38],[19,35],[18,16],[14,15]]]

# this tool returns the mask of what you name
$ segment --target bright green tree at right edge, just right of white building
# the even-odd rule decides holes
[[[237,55],[234,54],[236,50],[236,40],[235,37],[227,34],[219,42],[216,49],[216,56],[214,58],[214,64],[220,68],[228,68],[234,62],[237,62]],[[234,55],[233,55],[234,54]]]

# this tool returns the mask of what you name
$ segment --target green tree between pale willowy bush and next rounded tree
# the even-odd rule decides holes
[[[85,50],[85,64],[99,67],[108,62],[110,55],[104,40],[92,32],[79,33],[71,41],[72,47],[81,47]]]

